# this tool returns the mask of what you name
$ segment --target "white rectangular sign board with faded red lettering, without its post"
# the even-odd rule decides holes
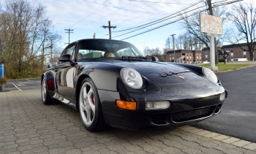
[[[222,18],[200,13],[200,31],[208,34],[222,35]]]

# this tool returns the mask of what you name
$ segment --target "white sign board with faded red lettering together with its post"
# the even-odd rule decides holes
[[[217,18],[213,15],[206,15],[200,13],[200,31],[206,33],[211,37],[210,39],[210,56],[211,66],[209,69],[217,71],[218,67],[215,66],[215,42],[214,37],[223,34],[222,30],[222,18]]]

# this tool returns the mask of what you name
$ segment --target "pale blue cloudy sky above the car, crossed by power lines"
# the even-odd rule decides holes
[[[0,0],[4,3],[4,0]],[[146,2],[147,1],[147,2]],[[212,0],[216,1],[231,1],[231,0]],[[254,1],[254,0],[244,0]],[[62,37],[59,45],[65,47],[64,43],[68,42],[68,34],[64,29],[73,29],[73,33],[70,34],[70,42],[74,42],[78,39],[92,38],[94,33],[96,38],[108,39],[108,29],[102,28],[102,26],[108,26],[108,21],[112,26],[117,28],[111,29],[113,31],[113,39],[125,39],[135,34],[140,34],[143,31],[147,31],[151,28],[157,28],[154,31],[149,31],[145,34],[125,39],[124,41],[131,42],[143,51],[143,48],[148,46],[150,48],[159,47],[162,50],[165,47],[165,39],[171,34],[182,34],[184,28],[180,26],[180,23],[171,23],[167,26],[163,26],[178,18],[171,18],[164,22],[142,28],[138,31],[134,31],[129,34],[125,34],[130,31],[121,31],[127,28],[133,28],[141,26],[145,23],[149,23],[159,18],[164,18],[174,12],[182,12],[181,10],[197,3],[194,7],[187,9],[188,11],[194,10],[197,7],[206,9],[205,2],[199,0],[35,0],[35,4],[41,3],[46,7],[48,17],[53,21],[56,31]],[[188,12],[190,15],[193,11]],[[121,31],[121,32],[114,32]],[[122,36],[118,36],[124,34]],[[115,37],[116,36],[116,37]]]

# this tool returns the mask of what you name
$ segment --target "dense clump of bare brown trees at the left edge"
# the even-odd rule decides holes
[[[48,58],[50,40],[59,40],[45,7],[26,0],[8,0],[0,10],[2,55],[8,78],[38,77]],[[56,42],[56,41],[55,41]]]

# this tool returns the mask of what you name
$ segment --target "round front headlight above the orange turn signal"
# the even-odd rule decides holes
[[[124,80],[125,84],[129,85],[131,88],[139,89],[143,85],[143,80],[139,72],[131,68],[121,69],[121,78]]]

